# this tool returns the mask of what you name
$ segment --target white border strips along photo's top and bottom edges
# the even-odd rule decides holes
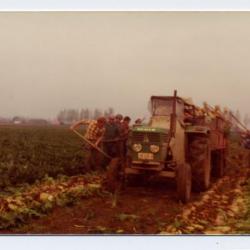
[[[0,0],[0,11],[247,11],[247,0]],[[18,250],[248,250],[249,236],[0,236]]]

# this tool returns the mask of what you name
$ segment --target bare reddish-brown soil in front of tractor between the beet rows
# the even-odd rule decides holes
[[[198,200],[195,194],[192,200]],[[0,233],[21,234],[157,234],[174,223],[184,208],[175,184],[150,182],[129,186],[118,196],[104,193],[71,207],[55,208],[40,219]]]

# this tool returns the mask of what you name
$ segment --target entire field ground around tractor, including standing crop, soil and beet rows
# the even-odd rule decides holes
[[[1,234],[250,232],[248,152],[237,142],[227,174],[185,205],[173,181],[108,192],[104,172],[84,171],[82,142],[67,127],[2,126],[0,145]]]

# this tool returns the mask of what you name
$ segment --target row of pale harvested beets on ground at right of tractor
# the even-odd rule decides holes
[[[246,170],[245,173],[248,171]],[[245,174],[244,173],[244,174]],[[186,205],[165,233],[227,234],[235,232],[235,221],[246,212],[242,186],[246,178],[224,177],[206,192],[200,201]]]

